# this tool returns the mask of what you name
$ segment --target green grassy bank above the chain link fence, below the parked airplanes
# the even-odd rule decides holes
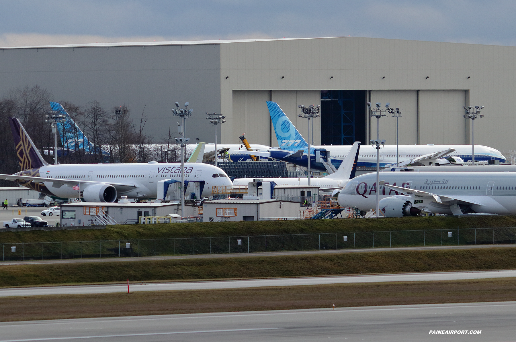
[[[516,216],[241,221],[112,225],[103,230],[0,232],[0,243],[158,239],[336,232],[514,227]]]

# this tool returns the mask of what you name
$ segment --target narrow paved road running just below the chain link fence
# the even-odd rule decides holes
[[[293,252],[257,252],[257,253],[231,253],[231,254],[194,254],[194,255],[167,255],[167,256],[142,256],[142,257],[120,257],[120,258],[84,258],[84,259],[53,259],[53,260],[24,260],[24,261],[0,261],[3,265],[39,265],[39,264],[71,264],[71,263],[110,263],[128,261],[149,261],[149,260],[174,260],[174,259],[205,259],[205,258],[231,258],[249,256],[280,256],[280,255],[310,255],[310,254],[332,254],[332,253],[363,253],[363,252],[387,252],[387,251],[431,251],[449,249],[476,249],[476,248],[514,248],[514,245],[467,245],[467,246],[431,246],[431,247],[393,247],[393,248],[361,248],[361,249],[339,249],[320,251],[293,251]]]

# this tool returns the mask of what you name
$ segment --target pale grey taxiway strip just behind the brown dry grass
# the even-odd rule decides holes
[[[173,282],[173,283],[149,283],[149,284],[142,283],[142,284],[131,284],[130,291],[135,292],[135,291],[200,290],[200,289],[244,288],[244,287],[264,287],[264,286],[296,286],[296,285],[410,282],[410,281],[443,281],[443,280],[510,278],[510,277],[516,277],[516,270],[474,271],[474,272],[429,272],[429,273],[402,273],[402,274],[380,274],[380,275],[346,275],[346,276],[320,276],[320,277],[307,277],[307,278],[275,278],[275,279],[250,279],[250,280],[204,281],[204,282]],[[126,291],[127,291],[127,284],[20,287],[20,288],[0,289],[0,297],[106,294],[106,293],[112,293],[112,292],[126,292]]]

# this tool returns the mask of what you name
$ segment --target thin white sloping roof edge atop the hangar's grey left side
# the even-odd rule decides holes
[[[185,40],[170,42],[123,42],[123,43],[88,43],[88,44],[65,44],[65,45],[34,45],[34,46],[8,46],[4,48],[45,48],[45,47],[96,47],[96,46],[142,46],[142,45],[200,45],[200,44],[224,44],[244,42],[264,42],[278,40],[300,40],[300,39],[323,39],[323,38],[345,38],[345,37],[315,37],[315,38],[268,38],[268,39],[228,39],[228,40]]]

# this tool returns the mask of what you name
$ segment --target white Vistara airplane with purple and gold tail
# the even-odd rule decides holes
[[[158,181],[181,181],[181,163],[49,165],[20,121],[9,118],[9,123],[23,171],[0,174],[0,179],[50,196],[83,198],[86,202],[115,202],[120,196],[156,198]],[[185,192],[189,182],[199,182],[201,197],[211,196],[212,186],[232,185],[228,175],[213,165],[187,162],[184,172]]]

